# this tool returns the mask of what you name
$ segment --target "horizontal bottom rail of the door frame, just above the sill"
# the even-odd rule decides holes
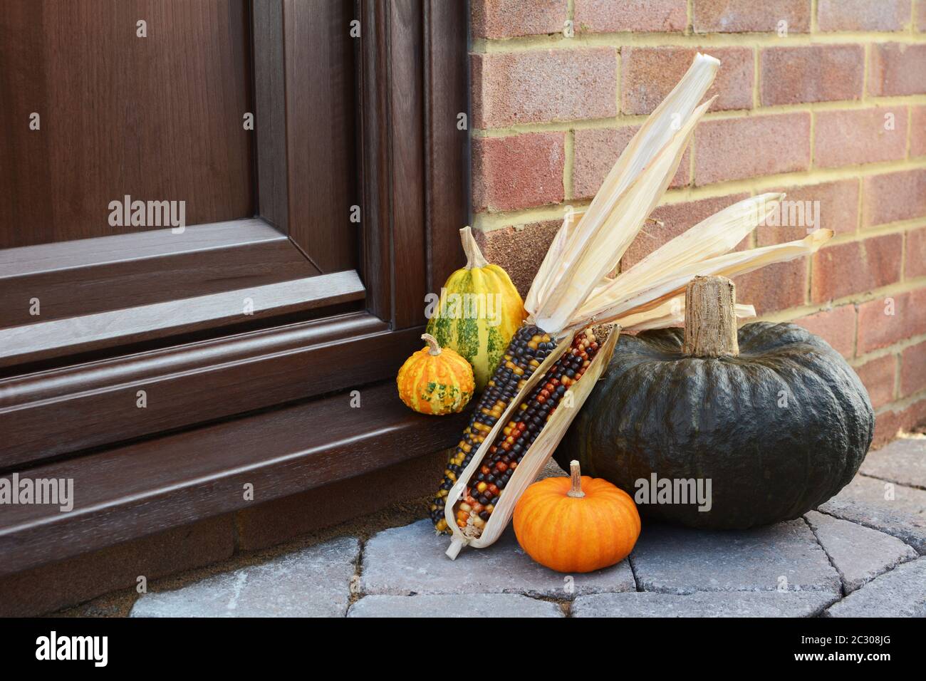
[[[423,331],[391,332],[382,320],[354,312],[288,324],[282,331],[0,378],[0,469],[345,386],[382,379],[394,384],[396,368],[419,349]],[[139,390],[147,400],[142,410]]]

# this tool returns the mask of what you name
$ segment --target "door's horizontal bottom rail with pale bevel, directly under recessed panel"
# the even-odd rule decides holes
[[[316,274],[285,235],[259,218],[194,225],[182,234],[148,230],[6,248],[0,250],[0,336],[12,326]]]

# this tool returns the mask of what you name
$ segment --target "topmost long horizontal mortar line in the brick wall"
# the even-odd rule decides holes
[[[522,35],[511,38],[474,38],[470,51],[478,55],[503,55],[543,50],[581,50],[594,47],[812,47],[833,44],[926,44],[926,32],[817,32],[788,33],[781,38],[776,32],[695,33],[684,32],[611,32],[580,33],[567,38],[562,32],[546,35]]]

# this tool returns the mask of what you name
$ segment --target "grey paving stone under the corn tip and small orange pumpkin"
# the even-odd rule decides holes
[[[809,531],[809,530],[808,530]],[[627,561],[588,574],[565,575],[532,561],[507,532],[488,549],[463,549],[456,561],[429,520],[383,530],[363,551],[360,589],[365,594],[519,593],[569,599],[573,595],[634,588]]]

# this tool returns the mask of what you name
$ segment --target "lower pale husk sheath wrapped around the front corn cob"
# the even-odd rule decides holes
[[[495,423],[489,435],[482,442],[482,445],[480,445],[476,455],[469,461],[469,465],[460,473],[459,480],[455,486],[451,487],[447,496],[447,503],[444,506],[447,525],[453,531],[453,538],[450,541],[450,547],[447,549],[447,555],[450,556],[450,558],[456,559],[460,549],[465,546],[470,546],[475,549],[483,549],[487,546],[491,546],[498,537],[501,536],[502,532],[504,532],[508,522],[511,520],[511,514],[514,513],[515,505],[518,503],[521,494],[531,485],[546,465],[546,462],[553,456],[553,452],[557,448],[559,441],[563,439],[563,435],[566,435],[566,430],[569,428],[572,420],[579,413],[579,410],[582,409],[582,404],[584,404],[585,399],[592,394],[595,382],[607,368],[607,363],[611,360],[611,355],[614,353],[614,346],[618,341],[620,327],[610,325],[608,327],[597,327],[595,329],[596,336],[606,333],[607,339],[605,339],[601,348],[598,350],[598,354],[592,359],[592,363],[589,365],[584,375],[582,375],[582,379],[569,388],[569,393],[571,393],[572,396],[572,406],[567,407],[565,405],[560,405],[550,416],[549,421],[544,425],[544,430],[541,431],[540,435],[537,435],[537,439],[533,441],[531,448],[528,449],[523,459],[520,460],[518,468],[505,487],[505,493],[499,498],[498,504],[495,506],[492,515],[489,517],[488,522],[485,523],[485,527],[482,529],[482,535],[476,538],[465,536],[460,528],[457,527],[454,518],[457,502],[462,498],[469,478],[471,478],[482,465],[482,457],[485,456],[485,452],[488,451],[488,448],[494,442],[495,436],[498,435],[498,431],[505,426],[512,411],[518,408],[521,398],[528,394],[528,391],[537,384],[537,381],[543,373],[546,372],[546,370],[559,359],[563,352],[569,348],[569,344],[572,342],[572,336],[567,336],[562,343],[557,345],[557,349],[554,350],[549,357],[544,359],[544,363],[541,364],[540,369],[534,372],[531,379],[528,381],[527,385],[530,387],[525,386],[525,389],[521,391],[523,395],[519,395],[519,397],[508,406],[502,418]],[[554,356],[556,357],[554,358]]]

